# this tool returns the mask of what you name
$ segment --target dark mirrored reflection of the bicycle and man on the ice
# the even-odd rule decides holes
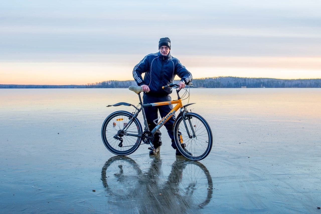
[[[160,155],[151,158],[147,172],[142,172],[139,165],[126,156],[114,156],[105,163],[101,180],[109,197],[118,205],[130,207],[130,201],[133,201],[142,213],[150,207],[159,213],[172,213],[173,210],[176,213],[195,213],[193,210],[210,202],[213,182],[203,164],[178,157],[172,164],[167,181],[164,181],[159,176],[162,174]]]

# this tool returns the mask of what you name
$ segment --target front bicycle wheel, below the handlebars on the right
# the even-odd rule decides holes
[[[199,114],[187,112],[179,115],[174,124],[174,137],[178,150],[190,160],[202,160],[211,151],[213,135],[206,120]]]

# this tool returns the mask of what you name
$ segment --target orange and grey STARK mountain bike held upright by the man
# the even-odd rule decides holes
[[[165,87],[177,87],[177,84],[169,84]],[[115,111],[111,113],[104,121],[101,128],[101,137],[107,149],[115,155],[125,156],[133,153],[140,146],[141,142],[149,144],[149,149],[153,150],[152,145],[154,134],[172,117],[175,112],[180,111],[174,127],[174,138],[178,150],[183,156],[190,160],[202,160],[211,151],[213,144],[212,131],[206,120],[199,114],[187,110],[187,106],[194,104],[189,103],[183,106],[181,97],[176,90],[177,100],[168,102],[145,103],[143,104],[140,93],[141,87],[130,86],[129,90],[138,94],[140,108],[129,103],[116,103],[110,106],[133,106],[136,110],[133,113],[128,111]],[[185,94],[189,93],[185,89]],[[183,96],[183,97],[184,97]],[[186,98],[187,99],[187,98]],[[144,107],[177,104],[174,108],[162,118],[153,130],[149,130]],[[144,120],[144,131],[142,125],[137,119],[138,114],[142,111]],[[185,149],[184,149],[185,148]],[[192,155],[188,154],[188,150]]]

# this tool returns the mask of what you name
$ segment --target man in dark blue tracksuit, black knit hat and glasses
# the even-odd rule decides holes
[[[134,67],[134,80],[137,85],[142,87],[144,92],[143,103],[171,101],[169,94],[172,92],[172,89],[169,87],[163,89],[162,86],[172,83],[176,75],[181,78],[178,82],[179,89],[185,88],[185,85],[192,81],[191,73],[177,58],[170,55],[170,48],[170,39],[167,37],[161,38],[158,43],[159,52],[145,56],[143,60]],[[145,73],[144,78],[142,78],[143,73]],[[172,108],[173,105],[144,108],[149,129],[152,130],[155,128],[158,122],[158,111],[163,118]],[[176,149],[176,155],[182,155],[178,151],[174,140],[174,132],[172,130],[174,122],[175,115],[173,115],[164,125],[172,140],[172,147]],[[153,141],[154,150],[150,151],[149,154],[157,154],[160,151],[161,145],[161,133],[160,131],[157,131]],[[188,152],[185,147],[183,149]],[[188,154],[192,155],[192,153],[189,152]]]

